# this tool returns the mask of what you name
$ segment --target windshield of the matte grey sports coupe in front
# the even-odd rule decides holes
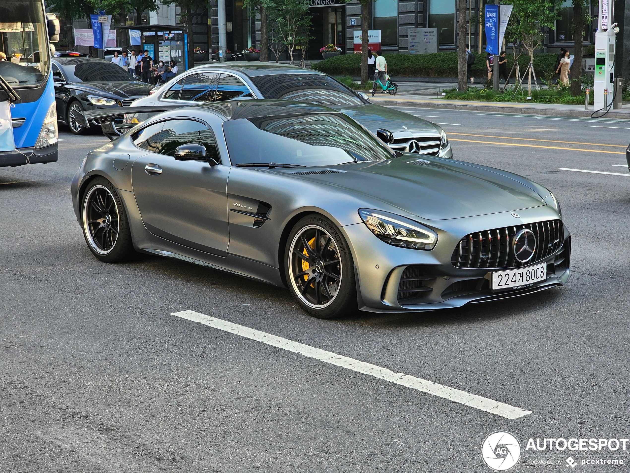
[[[228,120],[223,130],[232,165],[333,166],[392,157],[389,148],[341,114]]]

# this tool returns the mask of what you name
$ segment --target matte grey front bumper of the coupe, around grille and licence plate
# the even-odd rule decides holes
[[[546,207],[520,211],[520,223],[527,225],[536,221],[557,219],[558,214]],[[526,215],[528,213],[530,216]],[[493,292],[490,289],[489,276],[491,272],[500,271],[501,268],[453,266],[450,259],[460,238],[470,231],[494,228],[504,222],[513,225],[514,218],[510,214],[508,216],[511,220],[502,214],[495,214],[440,221],[440,226],[446,230],[433,228],[438,232],[438,245],[432,251],[387,245],[375,238],[363,223],[344,226],[343,230],[353,246],[360,308],[384,313],[454,308],[467,303],[512,298],[566,284],[571,257],[571,237],[566,226],[561,247],[553,254],[532,262],[531,266],[542,262],[547,264],[546,281]]]

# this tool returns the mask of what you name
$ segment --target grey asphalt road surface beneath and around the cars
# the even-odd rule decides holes
[[[573,236],[566,286],[318,320],[286,289],[224,272],[152,255],[105,264],[70,182],[107,140],[61,132],[59,162],[0,168],[0,471],[483,472],[496,430],[522,444],[515,471],[574,470],[569,455],[575,471],[626,470],[630,445],[525,445],[629,437],[630,122],[401,110],[444,127],[455,158],[553,190]],[[171,315],[186,310],[531,414],[508,419]],[[624,464],[580,464],[604,453]],[[541,459],[560,462],[531,463]]]

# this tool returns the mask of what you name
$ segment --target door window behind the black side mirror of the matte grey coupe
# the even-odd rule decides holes
[[[206,156],[221,163],[214,134],[203,123],[194,120],[168,120],[164,122],[161,133],[160,151],[162,155],[175,155],[175,149],[182,144],[201,143],[205,146]]]

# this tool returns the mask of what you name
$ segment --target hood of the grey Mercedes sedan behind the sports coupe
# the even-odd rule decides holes
[[[403,137],[404,134],[410,137],[439,136],[440,134],[440,127],[427,120],[374,103],[332,108],[357,120],[374,134],[379,128],[391,131],[396,137]]]

